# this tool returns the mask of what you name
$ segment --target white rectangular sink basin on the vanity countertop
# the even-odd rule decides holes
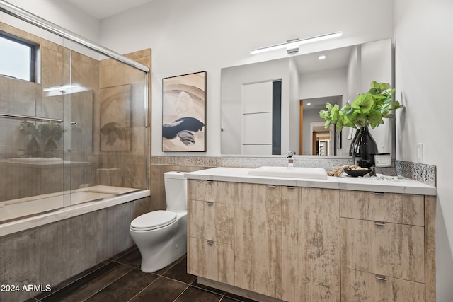
[[[268,177],[274,176],[278,178],[310,178],[317,180],[327,179],[325,169],[305,167],[260,167],[249,170],[247,175]]]

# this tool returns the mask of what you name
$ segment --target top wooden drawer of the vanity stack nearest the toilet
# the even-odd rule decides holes
[[[234,183],[210,180],[188,180],[188,199],[233,204]]]

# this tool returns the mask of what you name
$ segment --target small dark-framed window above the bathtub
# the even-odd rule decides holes
[[[32,42],[0,32],[0,75],[34,82],[35,48]]]

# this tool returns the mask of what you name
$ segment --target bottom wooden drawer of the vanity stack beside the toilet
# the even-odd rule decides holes
[[[189,237],[188,273],[234,285],[233,245]]]

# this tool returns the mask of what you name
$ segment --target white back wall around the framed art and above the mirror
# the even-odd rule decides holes
[[[161,155],[161,81],[207,71],[207,155],[220,154],[220,69],[287,57],[256,47],[343,30],[343,37],[301,52],[381,40],[393,35],[391,0],[154,0],[101,22],[101,44],[120,53],[153,49],[152,155]],[[328,7],[328,9],[326,9]],[[380,22],[369,22],[369,8]],[[172,153],[173,155],[178,155]],[[187,155],[187,154],[185,154]],[[196,154],[193,154],[196,155]]]

